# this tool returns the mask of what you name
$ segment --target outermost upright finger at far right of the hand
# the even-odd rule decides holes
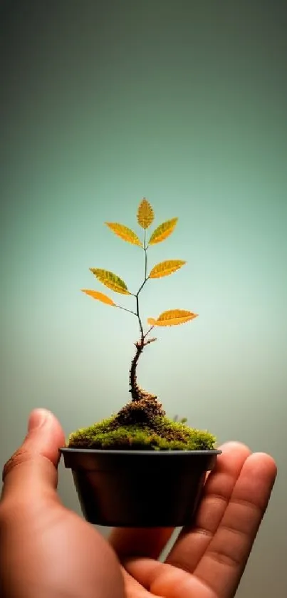
[[[216,596],[234,596],[276,478],[276,464],[263,453],[249,456],[207,551],[194,570]]]

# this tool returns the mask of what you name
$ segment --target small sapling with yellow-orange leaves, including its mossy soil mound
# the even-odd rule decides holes
[[[186,324],[197,317],[187,309],[169,309],[162,311],[160,316],[147,319],[147,328],[142,321],[140,309],[140,294],[147,282],[153,279],[167,277],[186,264],[182,259],[167,259],[165,262],[148,269],[148,254],[155,244],[165,241],[177,225],[178,218],[162,222],[155,228],[147,240],[147,230],[154,222],[154,210],[150,203],[143,199],[137,210],[137,223],[142,230],[142,240],[125,225],[118,222],[105,222],[108,228],[120,239],[140,248],[144,264],[144,277],[140,288],[133,293],[127,284],[116,274],[105,269],[90,268],[100,283],[116,294],[130,296],[133,308],[127,309],[118,304],[111,297],[98,290],[82,289],[93,299],[102,301],[110,307],[129,312],[137,319],[140,336],[135,342],[135,355],[130,365],[130,401],[120,411],[110,418],[93,423],[88,428],[81,428],[70,435],[69,448],[90,449],[134,449],[134,450],[210,450],[214,448],[215,438],[208,431],[199,431],[186,425],[186,418],[177,421],[166,416],[162,404],[156,395],[145,391],[137,383],[137,366],[140,356],[147,345],[156,341],[150,337],[155,329],[167,328]]]

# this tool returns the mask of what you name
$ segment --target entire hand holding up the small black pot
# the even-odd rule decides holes
[[[226,443],[192,528],[165,562],[172,529],[116,528],[109,541],[61,504],[58,448],[49,411],[31,413],[21,447],[4,467],[0,502],[1,598],[232,598],[266,511],[276,464]]]

